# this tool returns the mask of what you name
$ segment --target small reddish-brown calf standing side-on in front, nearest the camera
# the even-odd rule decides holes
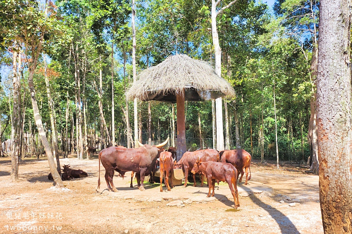
[[[211,196],[214,196],[215,180],[226,181],[231,190],[235,208],[237,209],[237,207],[240,206],[237,190],[238,171],[231,163],[214,161],[202,162],[202,159],[197,158],[191,173],[195,174],[199,172],[206,174],[208,183],[210,183],[210,181],[212,182],[212,186],[209,186],[208,198],[210,197],[211,188],[213,188]]]

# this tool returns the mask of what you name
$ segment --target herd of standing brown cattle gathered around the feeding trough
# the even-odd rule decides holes
[[[207,197],[214,196],[215,182],[227,182],[233,199],[235,208],[239,207],[237,180],[241,173],[240,182],[244,173],[246,173],[245,185],[251,179],[251,155],[243,149],[233,149],[228,151],[216,151],[215,149],[203,149],[194,152],[186,152],[181,160],[176,162],[175,148],[169,147],[164,149],[169,139],[164,143],[156,146],[142,145],[139,148],[125,147],[109,147],[99,152],[99,179],[98,189],[100,188],[100,162],[105,168],[105,181],[108,190],[118,192],[113,183],[114,171],[118,172],[121,177],[125,177],[125,173],[132,171],[131,187],[133,174],[136,173],[138,188],[142,191],[144,188],[144,178],[147,175],[152,175],[154,178],[157,167],[160,167],[160,192],[163,192],[162,181],[165,181],[165,186],[168,191],[169,175],[172,175],[174,169],[182,168],[185,176],[184,187],[187,186],[188,173],[193,174],[193,186],[196,186],[195,175],[198,173],[201,176],[201,186],[203,186],[203,177],[206,176],[209,186]],[[248,176],[248,173],[250,174]],[[153,181],[152,181],[153,182]],[[172,179],[171,179],[171,187]],[[211,189],[213,192],[211,194]]]

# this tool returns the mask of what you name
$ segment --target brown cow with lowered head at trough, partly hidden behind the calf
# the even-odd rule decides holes
[[[204,161],[216,161],[219,162],[220,160],[220,154],[218,151],[216,151],[215,149],[202,149],[202,150],[197,150],[194,152],[189,152],[187,151],[186,153],[183,154],[182,158],[180,159],[180,161],[178,161],[175,165],[175,169],[176,168],[182,168],[184,171],[184,176],[185,176],[185,180],[184,180],[184,187],[187,186],[187,181],[188,181],[188,172],[191,168],[193,168],[193,165],[195,163],[195,161],[197,160],[197,158],[204,158]],[[196,175],[193,174],[193,187],[197,186],[196,183]],[[202,178],[201,178],[201,187],[203,186],[203,174],[202,174]]]

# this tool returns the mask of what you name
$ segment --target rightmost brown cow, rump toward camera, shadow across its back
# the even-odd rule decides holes
[[[241,173],[241,177],[239,182],[242,181],[242,177],[244,175],[243,168],[246,170],[246,182],[251,179],[251,154],[245,151],[244,149],[233,149],[233,150],[225,150],[220,151],[220,158],[221,162],[228,162],[231,163],[236,169]],[[248,176],[248,169],[249,169],[249,176]],[[237,175],[238,179],[238,175]]]

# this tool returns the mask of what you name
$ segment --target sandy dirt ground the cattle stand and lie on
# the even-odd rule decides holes
[[[206,198],[208,187],[177,186],[159,192],[159,183],[145,183],[145,191],[130,188],[127,178],[114,177],[118,193],[108,192],[98,159],[61,159],[87,178],[64,181],[57,189],[48,180],[45,157],[20,162],[20,181],[10,181],[11,158],[0,158],[0,233],[323,233],[318,176],[299,164],[253,160],[249,185],[240,183],[238,210],[226,183],[215,187],[215,198]],[[136,185],[136,181],[134,181]],[[228,200],[228,198],[231,198]],[[179,201],[180,206],[167,206]],[[280,201],[284,201],[280,203]],[[294,207],[289,203],[295,203]]]

